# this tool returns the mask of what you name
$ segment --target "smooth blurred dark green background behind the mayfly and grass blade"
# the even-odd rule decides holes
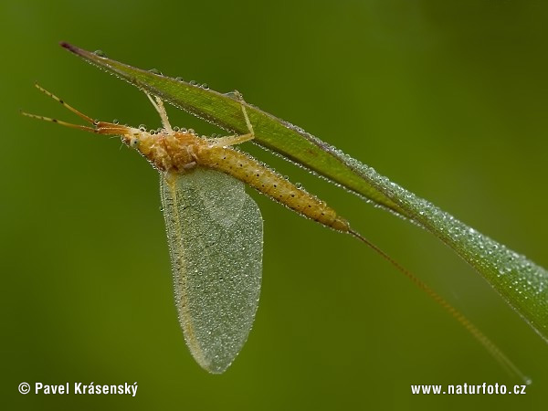
[[[5,1],[0,11],[3,408],[545,408],[546,344],[476,272],[427,232],[250,143],[464,311],[533,385],[527,395],[411,395],[411,384],[516,381],[369,249],[256,193],[257,319],[227,373],[206,374],[176,321],[156,172],[117,140],[17,111],[75,121],[38,80],[91,117],[159,125],[141,92],[58,41],[100,48],[240,90],[548,267],[548,3]],[[23,381],[139,390],[20,395]]]

